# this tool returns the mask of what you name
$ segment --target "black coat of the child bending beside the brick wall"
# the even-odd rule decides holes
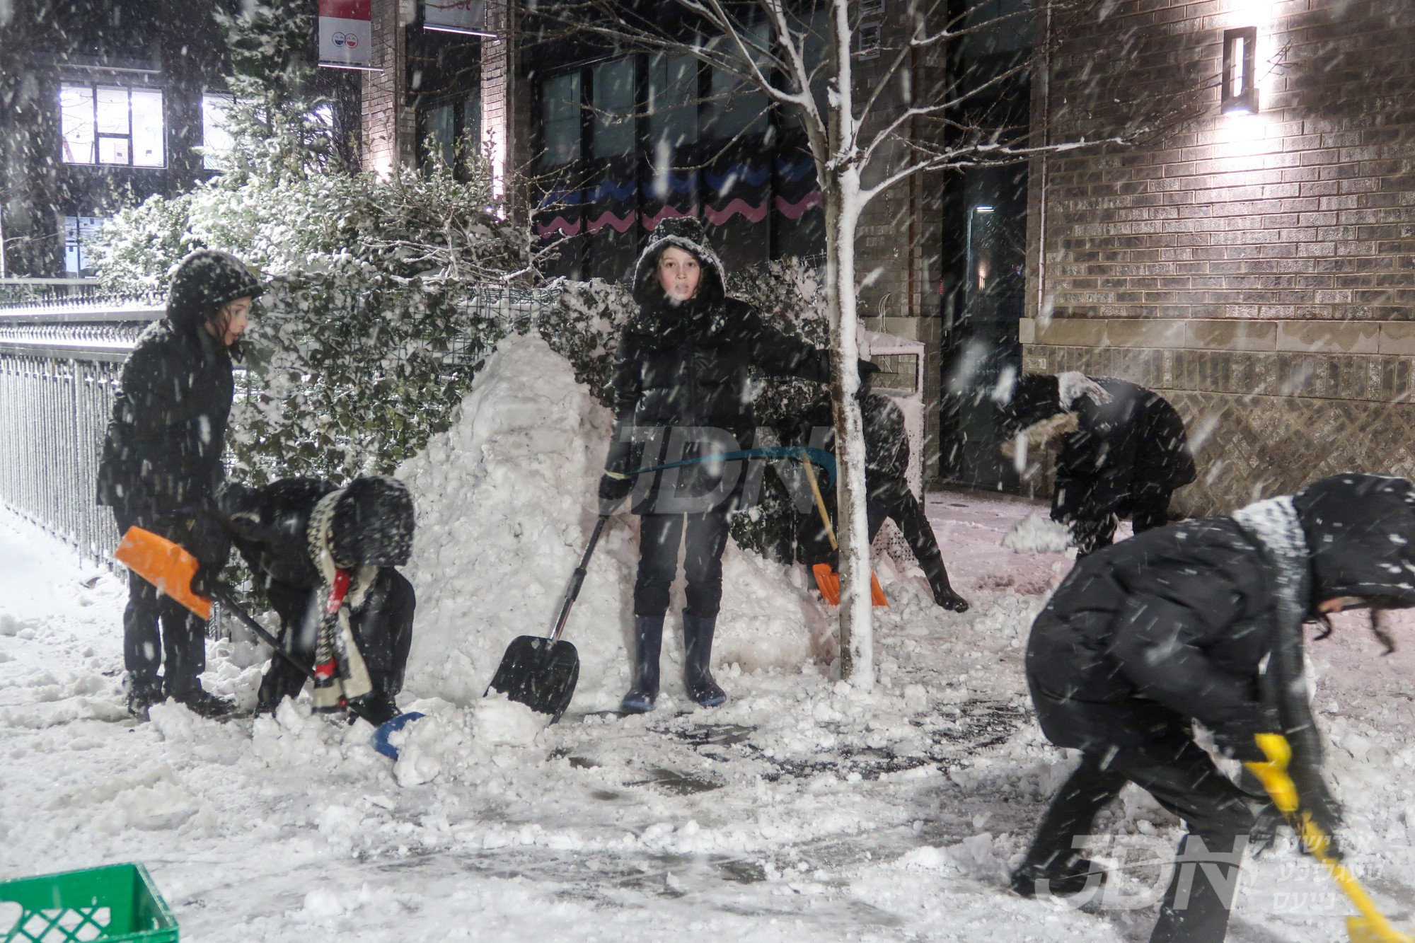
[[[1056,463],[1051,518],[1098,522],[1148,490],[1170,493],[1194,480],[1184,421],[1159,394],[1124,379],[1095,378],[1111,402],[1080,396],[1078,429]]]

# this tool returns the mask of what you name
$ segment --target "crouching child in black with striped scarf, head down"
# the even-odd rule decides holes
[[[416,605],[412,583],[393,569],[412,549],[408,487],[388,477],[355,479],[344,488],[316,479],[259,488],[229,484],[218,513],[280,616],[282,646],[296,661],[314,665],[316,708],[333,709],[344,697],[350,711],[375,726],[398,716],[395,697],[403,687]],[[338,650],[340,620],[347,620],[357,651]],[[355,660],[368,691],[350,664]],[[272,658],[256,712],[299,697],[304,681],[296,665]]]

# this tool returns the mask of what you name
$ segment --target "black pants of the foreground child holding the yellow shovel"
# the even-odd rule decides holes
[[[1149,791],[1189,827],[1150,943],[1220,943],[1254,814],[1247,794],[1184,735],[1105,755],[1084,753],[1043,816],[1026,864],[1064,865],[1080,851],[1073,840],[1091,833],[1097,813],[1126,782]]]

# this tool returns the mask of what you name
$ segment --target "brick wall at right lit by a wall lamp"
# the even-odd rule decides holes
[[[1261,110],[1218,115],[1223,31],[1241,25]],[[1201,115],[1034,163],[1026,367],[1174,401],[1201,433],[1184,510],[1344,469],[1415,474],[1411,48],[1407,0],[1129,0],[1064,37],[1034,108],[1054,142],[1145,99]]]

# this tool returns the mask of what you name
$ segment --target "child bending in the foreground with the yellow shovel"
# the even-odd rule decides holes
[[[1377,627],[1378,610],[1415,606],[1412,572],[1415,486],[1354,473],[1080,561],[1032,627],[1026,671],[1041,731],[1080,749],[1081,765],[1051,800],[1013,889],[1095,886],[1101,874],[1080,845],[1132,782],[1189,827],[1150,940],[1223,940],[1255,797],[1194,743],[1191,722],[1247,763],[1269,759],[1262,743],[1285,735],[1299,810],[1334,837],[1340,813],[1322,780],[1303,623],[1365,606]]]

